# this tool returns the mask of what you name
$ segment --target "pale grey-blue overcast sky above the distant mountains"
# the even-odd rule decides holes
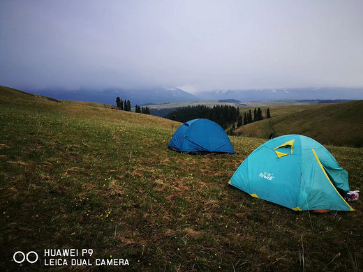
[[[0,1],[0,84],[363,86],[363,1]]]

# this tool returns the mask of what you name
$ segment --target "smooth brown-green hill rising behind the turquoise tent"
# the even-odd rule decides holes
[[[270,107],[270,110],[271,119],[250,123],[236,133],[260,138],[267,138],[272,132],[275,135],[302,134],[323,144],[363,146],[363,100]]]

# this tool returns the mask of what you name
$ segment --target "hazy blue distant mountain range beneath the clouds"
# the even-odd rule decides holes
[[[130,100],[131,105],[150,105],[184,102],[193,100],[239,100],[243,102],[259,100],[326,100],[348,99],[362,100],[363,88],[299,88],[299,89],[249,89],[203,91],[191,94],[178,88],[161,89],[104,89],[104,90],[67,90],[67,89],[31,89],[24,90],[60,100],[79,100],[105,104],[116,104],[116,98]]]

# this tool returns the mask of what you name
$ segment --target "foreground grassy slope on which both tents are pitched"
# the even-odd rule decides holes
[[[362,200],[355,212],[295,212],[226,186],[263,139],[233,137],[235,156],[188,156],[167,149],[166,119],[0,94],[1,271],[48,270],[12,259],[50,248],[127,258],[124,271],[363,267]],[[363,150],[327,148],[362,190]]]

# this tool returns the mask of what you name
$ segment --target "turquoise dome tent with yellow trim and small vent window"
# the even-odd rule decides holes
[[[255,149],[229,181],[252,197],[295,211],[354,211],[341,193],[348,192],[348,172],[324,146],[302,135],[285,135]]]

